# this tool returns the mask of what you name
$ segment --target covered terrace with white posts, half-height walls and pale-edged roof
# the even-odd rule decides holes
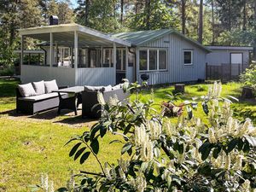
[[[107,85],[132,79],[131,43],[78,24],[20,29],[20,79],[22,83],[56,79],[61,85]],[[28,65],[26,38],[38,39],[44,62]]]

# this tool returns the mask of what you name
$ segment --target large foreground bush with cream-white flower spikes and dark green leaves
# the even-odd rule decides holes
[[[140,88],[127,87],[127,82],[125,87]],[[80,172],[74,191],[255,191],[256,129],[250,119],[233,118],[230,99],[221,98],[221,90],[215,83],[207,96],[184,102],[188,115],[172,121],[152,108],[152,100],[137,97],[122,104],[114,97],[109,104],[99,93],[102,118],[68,143],[76,142],[69,154],[74,160],[83,164],[92,155],[102,172]],[[207,124],[194,116],[197,106],[206,113]],[[116,165],[98,160],[97,138],[107,132],[123,136],[113,142],[124,143],[121,154],[130,158]]]

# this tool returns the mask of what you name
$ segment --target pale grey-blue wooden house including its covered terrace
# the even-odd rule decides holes
[[[22,83],[56,79],[67,85],[118,84],[121,79],[148,84],[206,78],[211,50],[172,29],[106,34],[78,24],[21,29]],[[26,38],[41,41],[44,59],[28,63]]]

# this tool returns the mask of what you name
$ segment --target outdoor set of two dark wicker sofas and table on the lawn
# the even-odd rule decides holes
[[[119,101],[123,101],[127,97],[122,89],[122,84],[60,87],[55,80],[39,81],[18,85],[16,88],[16,111],[17,113],[36,114],[58,108],[58,114],[62,109],[70,109],[77,115],[77,108],[79,104],[82,104],[83,118],[99,118],[101,107],[96,106],[98,91],[102,92],[106,102],[114,95],[118,97]]]

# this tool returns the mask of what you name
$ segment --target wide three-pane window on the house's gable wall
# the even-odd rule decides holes
[[[139,69],[141,71],[157,71],[167,69],[166,49],[139,50]]]

